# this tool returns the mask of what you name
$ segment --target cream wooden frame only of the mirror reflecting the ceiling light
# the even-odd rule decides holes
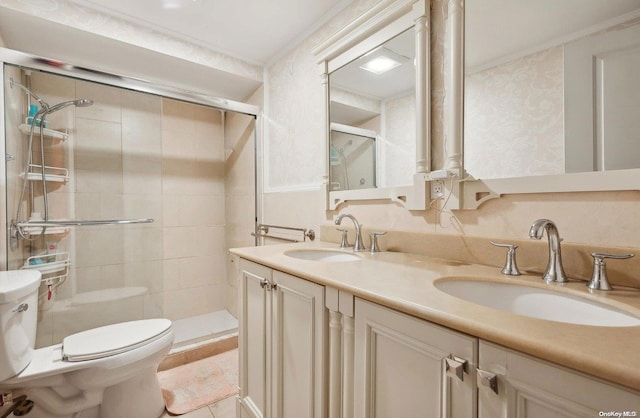
[[[325,155],[323,186],[327,210],[348,201],[390,199],[409,210],[425,210],[431,171],[430,1],[382,0],[313,50],[318,59],[325,97]],[[416,167],[413,183],[360,190],[330,191],[329,74],[407,29],[414,28],[416,48]]]

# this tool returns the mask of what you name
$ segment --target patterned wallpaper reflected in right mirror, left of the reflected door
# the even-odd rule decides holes
[[[465,169],[505,178],[564,172],[561,46],[467,75]]]

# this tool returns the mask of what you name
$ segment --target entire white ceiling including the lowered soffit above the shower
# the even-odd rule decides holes
[[[6,46],[77,66],[127,75],[226,99],[243,101],[262,84],[261,67],[337,15],[353,0],[57,0],[0,1],[0,36]],[[38,9],[42,7],[43,9]],[[51,7],[51,10],[45,10]],[[64,13],[82,10],[91,20],[74,25]],[[43,13],[48,12],[48,14]],[[57,15],[56,15],[57,13]],[[44,15],[44,18],[41,17]],[[70,23],[71,22],[71,23]],[[119,23],[121,22],[121,23]],[[111,36],[79,27],[113,25]],[[159,48],[115,39],[128,30],[157,34]],[[110,26],[107,26],[110,28]],[[123,29],[125,28],[125,29]],[[138,32],[134,32],[138,33]],[[172,39],[214,56],[241,60],[251,74],[191,59],[171,51]],[[163,46],[166,50],[163,51]],[[195,50],[195,49],[194,49]],[[198,56],[196,56],[198,55]],[[220,59],[219,59],[220,61]],[[221,61],[225,61],[222,59]],[[244,64],[242,64],[244,62]],[[215,63],[214,63],[215,64]],[[187,74],[185,77],[183,74]],[[256,75],[257,74],[257,75]],[[179,76],[176,76],[179,75]]]

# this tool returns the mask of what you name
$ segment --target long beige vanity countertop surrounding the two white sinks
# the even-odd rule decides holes
[[[234,248],[231,253],[275,270],[396,309],[451,329],[640,390],[640,326],[598,327],[535,319],[450,296],[435,282],[469,278],[522,283],[578,294],[640,317],[640,290],[593,292],[584,281],[546,284],[540,275],[504,276],[500,268],[397,252],[356,253],[361,260],[324,262],[285,255],[295,249],[338,250],[330,242]],[[353,250],[344,250],[353,254]],[[541,307],[544,309],[544,307]]]

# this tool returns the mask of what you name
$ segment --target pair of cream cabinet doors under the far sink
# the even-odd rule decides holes
[[[240,260],[239,416],[325,416],[324,287]]]

